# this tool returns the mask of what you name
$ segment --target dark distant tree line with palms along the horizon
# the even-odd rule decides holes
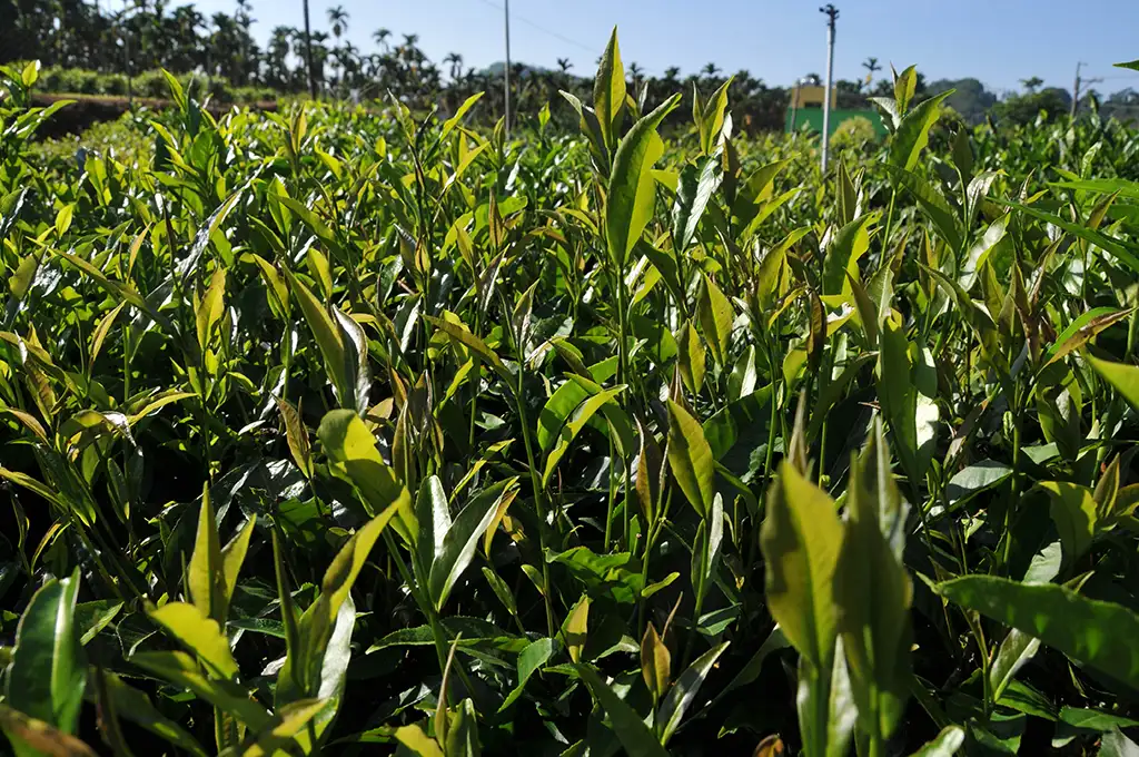
[[[305,16],[308,0],[303,0]],[[370,99],[391,93],[413,108],[440,106],[453,109],[474,92],[483,91],[484,115],[497,119],[505,108],[501,88],[502,65],[475,68],[465,65],[458,52],[441,62],[431,60],[418,47],[417,34],[395,35],[388,29],[371,33],[375,47],[361,50],[347,39],[351,15],[343,6],[328,7],[323,15],[312,15],[322,29],[309,33],[293,26],[276,26],[264,46],[251,33],[255,23],[249,0],[237,0],[232,15],[202,14],[194,5],[171,7],[166,0],[134,0],[118,10],[84,0],[0,0],[0,63],[39,59],[46,66],[82,68],[113,74],[138,74],[166,68],[175,74],[199,73],[228,79],[236,87],[263,87],[282,93],[300,93],[310,86],[320,96]],[[311,60],[311,83],[310,83]],[[865,75],[838,80],[835,84],[839,108],[870,108],[870,97],[890,95],[892,83],[875,57],[862,63]],[[670,67],[663,75],[650,76],[636,63],[626,65],[631,84],[647,88],[652,97],[685,92],[695,88],[705,93],[729,75],[714,63],[698,72],[681,75]],[[784,128],[789,104],[788,87],[771,86],[748,71],[731,74],[729,97],[740,128],[748,131],[777,131]],[[547,103],[559,104],[558,90],[585,93],[590,80],[575,75],[567,58],[554,70],[516,63],[511,66],[514,104],[519,113],[536,113]],[[803,83],[820,83],[809,74]],[[919,75],[919,95],[926,89]],[[1027,122],[1044,109],[1052,117],[1063,116],[1071,96],[1060,89],[1040,89],[1035,79],[1022,82],[1024,90],[1002,98],[975,79],[939,81],[928,87],[941,91],[956,88],[949,100],[968,123],[986,116]],[[1088,107],[1100,96],[1089,92],[1081,98]],[[1108,115],[1139,116],[1139,95],[1133,90],[1116,92],[1105,101]],[[568,119],[568,107],[554,107],[555,117]]]

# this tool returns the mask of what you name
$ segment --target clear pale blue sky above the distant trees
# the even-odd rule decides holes
[[[314,29],[328,29],[335,2],[310,0]],[[174,3],[178,5],[178,0]],[[203,13],[232,13],[235,0],[199,0]],[[351,15],[347,36],[372,49],[384,26],[395,39],[419,35],[436,63],[454,51],[468,66],[502,59],[502,0],[342,0]],[[715,63],[747,68],[769,84],[786,84],[826,67],[826,18],[817,0],[511,0],[515,60],[552,67],[570,58],[573,71],[592,71],[616,25],[622,57],[650,73],[683,73]],[[876,56],[899,70],[917,64],[931,80],[974,76],[998,92],[1040,76],[1072,87],[1077,60],[1084,76],[1109,92],[1139,89],[1139,73],[1112,68],[1139,58],[1139,0],[838,0],[836,78],[865,75]],[[302,26],[300,0],[253,0],[254,35],[276,25]],[[888,71],[888,68],[887,68]],[[880,75],[880,74],[879,74]]]

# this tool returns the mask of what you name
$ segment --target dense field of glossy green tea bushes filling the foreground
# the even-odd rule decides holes
[[[822,176],[614,34],[580,135],[71,157],[3,76],[14,754],[1139,749],[1132,129],[909,68]]]

